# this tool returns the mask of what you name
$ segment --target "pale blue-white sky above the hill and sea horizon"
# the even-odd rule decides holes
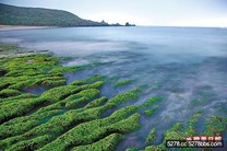
[[[0,0],[70,11],[82,19],[153,26],[227,27],[227,0]]]

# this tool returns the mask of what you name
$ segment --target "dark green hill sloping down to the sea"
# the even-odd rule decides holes
[[[108,26],[84,20],[77,15],[62,11],[40,8],[23,8],[0,3],[1,25],[35,25],[35,26]]]

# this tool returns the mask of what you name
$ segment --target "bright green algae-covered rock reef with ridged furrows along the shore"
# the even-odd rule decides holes
[[[133,104],[147,89],[140,85],[108,98],[101,95],[101,88],[111,79],[100,74],[69,83],[65,72],[76,73],[91,67],[62,67],[63,59],[45,54],[0,58],[0,150],[113,151],[128,133],[143,129],[141,117],[152,120],[158,112],[154,105],[165,100],[152,96]],[[113,85],[127,86],[134,81],[119,81]],[[35,88],[45,89],[40,94],[26,91]],[[166,140],[198,135],[196,124],[202,117],[203,112],[196,112],[186,127],[176,123],[163,133],[159,144],[153,143],[158,127],[152,127],[144,136],[142,150],[167,150]],[[227,119],[213,116],[205,127],[204,135],[222,135],[227,129]]]

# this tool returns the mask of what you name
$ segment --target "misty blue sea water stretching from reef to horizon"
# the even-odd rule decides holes
[[[203,120],[198,126],[200,133],[208,117],[227,116],[226,28],[139,26],[23,30],[0,32],[0,43],[14,43],[27,49],[50,50],[56,56],[74,58],[64,66],[101,63],[65,74],[68,83],[99,73],[118,80],[135,80],[122,88],[107,83],[101,94],[108,97],[141,84],[146,85],[139,100],[120,107],[143,103],[151,96],[164,97],[162,103],[151,107],[158,108],[153,116],[142,114],[142,128],[127,135],[118,150],[129,147],[143,149],[151,128],[157,130],[154,142],[157,144],[163,141],[165,130],[177,121],[186,125],[198,111],[204,112]]]

